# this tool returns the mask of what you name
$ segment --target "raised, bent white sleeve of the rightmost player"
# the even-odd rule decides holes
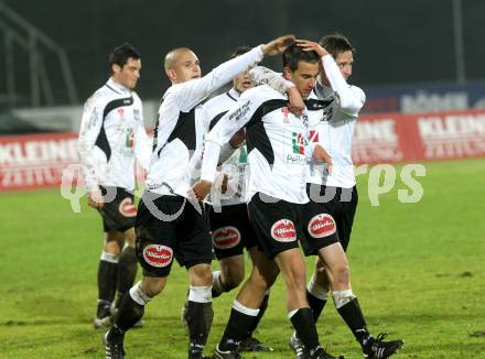
[[[336,93],[341,111],[348,116],[357,117],[364,106],[365,96],[358,96],[351,89],[351,86],[342,76],[335,59],[331,55],[323,56],[322,63],[330,85]],[[362,91],[362,95],[364,95],[364,91]]]

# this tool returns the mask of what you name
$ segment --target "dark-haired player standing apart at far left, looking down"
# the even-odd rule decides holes
[[[108,65],[110,78],[84,106],[78,140],[88,204],[101,215],[105,231],[95,328],[110,323],[116,290],[119,304],[134,282],[133,165],[138,159],[148,168],[151,154],[141,100],[133,91],[140,78],[140,54],[122,44],[109,55]]]

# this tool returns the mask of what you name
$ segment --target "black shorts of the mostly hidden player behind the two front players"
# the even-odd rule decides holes
[[[213,206],[207,207],[214,252],[218,260],[242,254],[245,247],[258,246],[246,204],[224,206],[220,213],[214,211]]]

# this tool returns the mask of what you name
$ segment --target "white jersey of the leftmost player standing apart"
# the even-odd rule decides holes
[[[134,159],[148,168],[151,140],[138,95],[110,78],[84,105],[78,155],[87,187],[134,188]]]

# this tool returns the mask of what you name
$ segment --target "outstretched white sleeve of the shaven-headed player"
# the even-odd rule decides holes
[[[234,77],[255,66],[263,57],[262,46],[256,46],[247,53],[229,59],[202,78],[173,86],[177,106],[181,111],[191,110],[214,90],[230,81]]]

